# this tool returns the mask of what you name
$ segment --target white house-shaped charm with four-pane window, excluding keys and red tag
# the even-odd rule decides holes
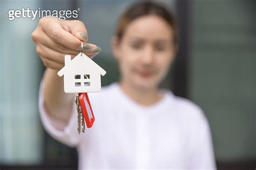
[[[66,93],[99,92],[102,87],[100,76],[105,74],[106,71],[83,52],[72,60],[66,55],[65,66],[58,72],[59,77],[64,75]]]

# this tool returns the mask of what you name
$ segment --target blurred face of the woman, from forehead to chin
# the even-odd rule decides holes
[[[175,50],[171,26],[154,15],[134,19],[122,40],[113,42],[121,80],[141,90],[159,85],[169,71]]]

